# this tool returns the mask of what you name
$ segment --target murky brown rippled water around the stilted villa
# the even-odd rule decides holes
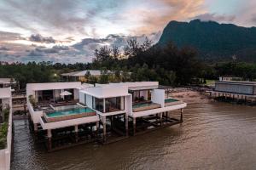
[[[256,169],[256,107],[209,101],[185,110],[182,125],[113,144],[46,153],[28,122],[15,121],[12,169]]]

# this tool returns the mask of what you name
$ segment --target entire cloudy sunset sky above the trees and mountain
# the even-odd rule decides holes
[[[90,62],[96,48],[157,42],[171,20],[256,25],[255,0],[0,0],[0,61]]]

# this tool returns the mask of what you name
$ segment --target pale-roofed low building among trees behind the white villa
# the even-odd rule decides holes
[[[113,71],[107,71],[109,74],[113,73]],[[61,77],[67,82],[86,82],[86,74],[90,73],[92,77],[100,77],[102,75],[102,71],[100,70],[85,70],[85,71],[75,71],[61,74]]]

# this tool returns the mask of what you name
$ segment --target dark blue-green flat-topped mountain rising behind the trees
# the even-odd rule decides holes
[[[256,28],[214,21],[171,21],[164,29],[159,46],[173,42],[178,48],[196,48],[201,59],[256,61]],[[235,57],[236,56],[236,57]]]

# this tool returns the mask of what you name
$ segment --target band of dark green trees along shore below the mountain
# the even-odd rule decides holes
[[[102,70],[101,77],[86,73],[88,83],[158,81],[163,85],[183,86],[218,80],[219,76],[256,79],[256,64],[239,62],[206,62],[198,58],[194,48],[177,48],[172,43],[161,47],[132,38],[124,53],[119,48],[102,47],[95,51],[92,63],[60,64],[50,62],[0,63],[0,77],[12,77],[26,88],[29,82],[60,82],[61,73],[82,70]],[[113,71],[109,73],[108,70]]]

